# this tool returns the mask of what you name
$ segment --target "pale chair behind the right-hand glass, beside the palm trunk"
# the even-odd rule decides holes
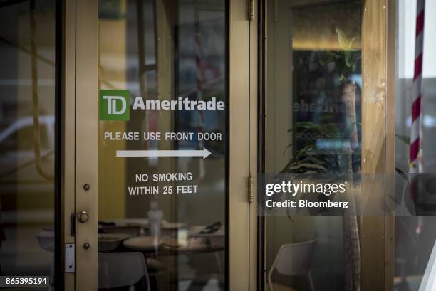
[[[315,291],[310,269],[313,250],[317,242],[318,240],[310,240],[303,243],[290,243],[280,247],[279,253],[277,253],[268,273],[269,291],[274,291],[274,284],[271,282],[274,269],[282,275],[307,275],[311,290]],[[277,287],[276,289],[278,289]]]

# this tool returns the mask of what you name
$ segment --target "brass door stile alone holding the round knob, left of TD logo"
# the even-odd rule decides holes
[[[97,205],[98,1],[76,0],[76,290],[97,290]]]

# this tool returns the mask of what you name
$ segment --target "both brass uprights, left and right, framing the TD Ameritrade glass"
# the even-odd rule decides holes
[[[65,273],[65,290],[97,290],[98,1],[63,3],[63,243],[76,245],[76,273]],[[256,290],[256,203],[248,202],[246,181],[257,171],[257,25],[249,22],[247,1],[228,3],[227,280],[229,290]],[[76,220],[71,236],[78,211],[90,217]]]

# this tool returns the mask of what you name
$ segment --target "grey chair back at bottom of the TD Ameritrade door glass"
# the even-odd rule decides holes
[[[135,284],[145,277],[147,291],[150,279],[142,253],[98,253],[98,289],[127,287],[135,290]]]

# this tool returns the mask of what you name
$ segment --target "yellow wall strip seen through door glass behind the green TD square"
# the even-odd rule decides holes
[[[125,1],[122,1],[125,9]],[[99,85],[100,89],[125,90],[126,21],[125,18],[100,18]],[[105,131],[123,132],[121,121],[100,121],[98,139],[98,219],[125,218],[125,159],[115,157],[115,150],[125,149],[125,142],[104,142]],[[121,173],[121,174],[120,174]]]

